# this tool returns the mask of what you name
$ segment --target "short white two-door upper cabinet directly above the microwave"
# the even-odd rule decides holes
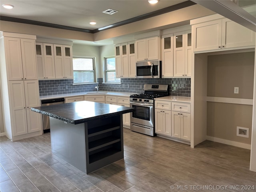
[[[159,36],[136,40],[136,61],[158,60],[160,55]]]

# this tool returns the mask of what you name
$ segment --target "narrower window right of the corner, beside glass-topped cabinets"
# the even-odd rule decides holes
[[[116,78],[116,62],[114,57],[105,58],[106,83],[120,82],[120,78]]]

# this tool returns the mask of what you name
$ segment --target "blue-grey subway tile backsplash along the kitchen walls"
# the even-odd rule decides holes
[[[164,78],[164,79],[134,79],[122,78],[121,84],[103,83],[103,78],[97,79],[100,91],[143,93],[144,84],[169,84],[169,92],[172,96],[191,96],[190,78]],[[40,96],[80,93],[95,91],[95,84],[73,85],[72,79],[63,80],[39,80]]]

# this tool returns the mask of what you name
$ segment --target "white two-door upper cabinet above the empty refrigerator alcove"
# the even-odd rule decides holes
[[[192,24],[194,52],[232,50],[255,45],[255,32],[227,18],[198,24],[195,20]]]

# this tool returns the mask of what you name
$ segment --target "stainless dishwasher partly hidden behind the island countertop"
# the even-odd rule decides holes
[[[42,103],[42,106],[57,105],[57,104],[65,103],[65,99],[64,98],[47,99],[47,100],[42,100],[41,103]],[[49,116],[47,115],[43,115],[43,128],[44,128],[44,133],[50,132],[50,120],[49,120]]]

